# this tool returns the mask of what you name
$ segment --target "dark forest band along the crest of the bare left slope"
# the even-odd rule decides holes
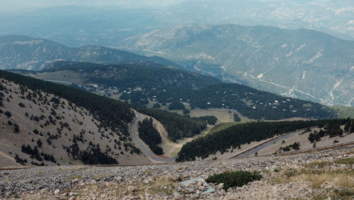
[[[21,84],[33,91],[44,91],[55,94],[60,98],[67,99],[77,106],[88,109],[93,116],[102,122],[103,128],[112,128],[113,130],[127,131],[127,123],[132,121],[135,116],[127,104],[113,99],[105,98],[96,94],[89,93],[80,89],[66,87],[61,84],[45,82],[40,79],[24,77],[11,72],[0,71],[0,77],[8,81]]]

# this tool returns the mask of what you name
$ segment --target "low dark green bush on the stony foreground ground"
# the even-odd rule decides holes
[[[261,179],[262,176],[258,172],[236,171],[236,172],[224,172],[221,174],[214,174],[206,179],[207,182],[215,184],[224,183],[224,189],[230,187],[242,187],[249,182]]]

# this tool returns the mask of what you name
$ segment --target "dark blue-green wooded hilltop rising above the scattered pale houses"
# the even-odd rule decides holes
[[[57,72],[70,70],[79,73],[88,83],[103,84],[105,87],[142,89],[166,89],[166,87],[198,88],[221,82],[202,74],[166,67],[158,63],[100,65],[90,62],[54,62],[50,68],[36,72]]]

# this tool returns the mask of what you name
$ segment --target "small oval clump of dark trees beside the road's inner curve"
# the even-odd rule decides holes
[[[162,155],[164,152],[159,146],[162,142],[160,133],[154,128],[152,118],[145,118],[142,122],[139,122],[139,138],[141,138],[145,144],[147,144],[156,155]]]

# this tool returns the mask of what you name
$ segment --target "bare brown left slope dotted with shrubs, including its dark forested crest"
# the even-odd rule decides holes
[[[4,71],[0,90],[1,167],[149,163],[123,103]]]

